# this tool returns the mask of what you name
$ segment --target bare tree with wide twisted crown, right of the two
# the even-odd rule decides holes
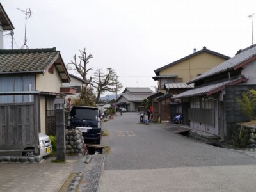
[[[116,72],[113,68],[107,68],[106,74],[102,72],[102,69],[98,69],[94,72],[94,78],[92,79],[93,87],[97,89],[97,97],[95,102],[99,102],[100,95],[105,92],[116,93],[122,88],[122,84],[118,81]]]

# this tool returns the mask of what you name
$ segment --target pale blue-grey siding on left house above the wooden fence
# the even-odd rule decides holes
[[[35,91],[35,75],[13,75],[0,76],[0,92],[21,92],[29,91],[29,84],[31,84],[31,91]],[[0,96],[0,103],[20,103],[29,102],[29,95],[8,95]],[[33,102],[33,97],[31,102]]]

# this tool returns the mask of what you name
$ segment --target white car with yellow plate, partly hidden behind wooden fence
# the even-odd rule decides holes
[[[49,156],[49,154],[52,153],[52,144],[49,136],[43,133],[39,133],[39,151],[40,155],[45,157]],[[35,156],[35,151],[33,147],[26,147],[24,150],[31,150],[31,151],[26,151],[22,152],[22,156]]]

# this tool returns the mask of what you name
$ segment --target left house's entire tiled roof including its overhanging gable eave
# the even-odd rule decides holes
[[[56,47],[50,49],[0,49],[0,74],[44,73],[55,65],[63,83],[70,82]]]

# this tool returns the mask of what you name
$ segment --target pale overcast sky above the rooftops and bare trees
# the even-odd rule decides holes
[[[14,49],[56,47],[66,63],[86,48],[93,71],[114,68],[126,87],[157,86],[154,70],[207,47],[227,56],[252,45],[256,1],[0,0],[12,21]],[[256,31],[256,14],[253,16]],[[253,33],[256,38],[256,33]],[[10,35],[4,49],[11,49]],[[256,43],[253,40],[253,43]],[[89,74],[93,76],[93,74]]]

